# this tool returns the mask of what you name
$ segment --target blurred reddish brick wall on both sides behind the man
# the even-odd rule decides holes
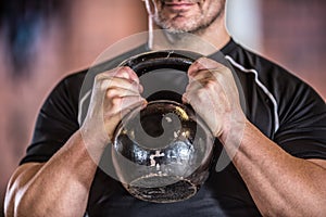
[[[261,5],[261,52],[326,98],[326,1],[263,0]],[[47,26],[36,43],[28,76],[20,79],[10,78],[5,33],[0,31],[0,199],[29,142],[38,108],[54,84],[92,63],[111,43],[146,29],[141,1],[71,0],[65,16]]]

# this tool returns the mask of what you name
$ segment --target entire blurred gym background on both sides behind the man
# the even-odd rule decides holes
[[[236,41],[326,99],[325,11],[324,0],[228,0],[227,25]],[[145,30],[141,0],[0,1],[0,216],[8,180],[49,91],[110,44]]]

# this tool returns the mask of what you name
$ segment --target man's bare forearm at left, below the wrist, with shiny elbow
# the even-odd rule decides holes
[[[83,216],[96,161],[77,131],[33,177],[24,171],[13,180],[7,195],[13,206],[9,216]]]

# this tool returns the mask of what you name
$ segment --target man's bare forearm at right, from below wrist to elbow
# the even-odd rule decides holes
[[[326,169],[289,155],[250,123],[233,162],[262,214],[325,216]]]

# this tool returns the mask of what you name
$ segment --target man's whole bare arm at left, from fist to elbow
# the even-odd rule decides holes
[[[7,216],[83,216],[98,163],[124,114],[146,106],[142,87],[129,67],[98,74],[87,116],[45,164],[17,168],[5,195]]]

